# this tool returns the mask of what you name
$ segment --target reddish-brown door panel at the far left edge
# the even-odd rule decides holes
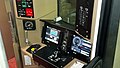
[[[7,55],[7,60],[15,56],[13,50],[11,28],[8,20],[9,19],[5,9],[5,2],[4,0],[0,0],[0,31],[3,36],[3,43]]]

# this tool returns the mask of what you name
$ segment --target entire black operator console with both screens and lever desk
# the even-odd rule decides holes
[[[77,34],[71,25],[66,26],[63,21],[41,21],[45,23],[42,43],[47,46],[33,54],[35,61],[46,68],[63,68],[74,58],[89,63],[91,43]]]

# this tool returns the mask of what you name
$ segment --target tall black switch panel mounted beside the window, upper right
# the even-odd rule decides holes
[[[78,0],[76,31],[90,39],[94,0]]]

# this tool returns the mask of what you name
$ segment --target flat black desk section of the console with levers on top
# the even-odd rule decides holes
[[[63,68],[73,57],[62,54],[56,46],[46,46],[33,54],[33,59],[46,68]]]

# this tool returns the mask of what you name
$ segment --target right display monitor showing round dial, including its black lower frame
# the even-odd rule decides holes
[[[91,43],[79,35],[72,35],[70,50],[78,59],[89,62]]]

